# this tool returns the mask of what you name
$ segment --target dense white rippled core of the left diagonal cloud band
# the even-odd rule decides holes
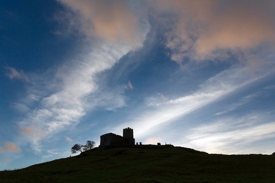
[[[111,68],[130,49],[131,47],[126,45],[116,47],[111,43],[105,43],[99,49],[93,49],[92,52],[83,55],[80,61],[71,61],[72,67],[65,66],[57,70],[52,85],[56,85],[58,90],[48,90],[48,95],[44,95],[47,88],[41,93],[37,92],[34,81],[33,87],[29,85],[29,94],[34,91],[34,95],[40,95],[40,107],[30,110],[19,125],[21,132],[30,138],[32,148],[39,152],[39,140],[65,127],[75,126],[87,110],[100,105],[106,105],[108,108],[112,105],[113,108],[119,107],[119,103],[112,102],[115,98],[102,103],[105,96],[99,97],[99,80],[96,74]],[[40,76],[39,81],[48,82],[48,77],[42,79]],[[90,101],[93,103],[89,104]],[[41,135],[38,131],[42,131],[43,136],[38,137]]]

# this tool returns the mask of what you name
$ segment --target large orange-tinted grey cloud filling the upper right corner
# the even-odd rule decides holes
[[[251,49],[275,42],[274,1],[160,1],[159,11],[177,15],[166,33],[171,58],[201,60],[217,50]],[[215,52],[216,51],[216,52]]]

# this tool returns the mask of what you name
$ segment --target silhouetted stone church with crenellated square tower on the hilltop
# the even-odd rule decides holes
[[[112,146],[112,145],[134,145],[134,133],[133,129],[123,129],[123,137],[113,133],[104,134],[100,136],[100,146]]]

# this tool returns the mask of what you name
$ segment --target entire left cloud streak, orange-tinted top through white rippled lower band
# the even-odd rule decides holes
[[[149,30],[146,23],[144,27],[136,27],[139,20],[125,3],[60,2],[64,5],[66,20],[59,17],[59,22],[78,30],[88,41],[97,39],[97,44],[86,45],[85,51],[75,59],[64,61],[57,69],[31,75],[28,99],[20,101],[30,110],[19,122],[19,128],[36,152],[41,151],[43,139],[76,126],[87,111],[125,106],[124,87],[117,87],[116,91],[108,88],[100,73],[111,69],[129,51],[142,46]],[[29,102],[33,100],[38,105]],[[38,137],[38,129],[43,136]]]

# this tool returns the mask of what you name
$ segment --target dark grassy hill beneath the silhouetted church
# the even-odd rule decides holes
[[[272,183],[275,156],[207,154],[171,145],[111,148],[0,171],[0,182]]]

